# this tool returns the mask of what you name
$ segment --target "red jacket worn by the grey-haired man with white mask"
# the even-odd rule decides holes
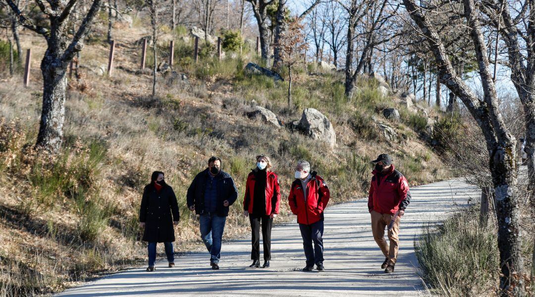
[[[297,223],[314,224],[323,221],[323,210],[331,197],[329,188],[322,177],[316,171],[310,172],[310,181],[307,184],[307,198],[304,198],[301,179],[295,179],[288,196],[288,203],[294,215],[297,215]]]

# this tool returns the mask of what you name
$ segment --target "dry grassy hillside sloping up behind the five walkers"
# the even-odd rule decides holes
[[[40,117],[39,72],[32,72],[30,88],[21,87],[20,76],[0,84],[0,118],[5,118],[0,129],[6,140],[0,147],[0,191],[6,193],[0,197],[0,240],[9,242],[0,247],[3,294],[56,292],[95,273],[144,261],[137,212],[142,188],[153,170],[165,172],[179,199],[175,249],[181,252],[202,249],[198,219],[186,209],[185,195],[211,155],[223,158],[223,169],[232,174],[240,191],[227,219],[225,238],[248,230],[240,204],[258,153],[271,155],[283,200],[300,158],[309,159],[326,179],[333,203],[366,196],[369,162],[383,152],[395,156],[396,166],[413,185],[450,176],[417,137],[389,143],[381,136],[363,137],[361,130],[352,128],[355,113],[369,119],[379,116],[382,107],[395,104],[378,97],[373,81],[363,80],[362,91],[348,99],[342,96],[338,74],[308,77],[301,71],[295,79],[295,105],[288,107],[285,83],[245,77],[241,67],[249,61],[246,58],[207,60],[197,69],[179,65],[188,71],[188,83],[159,77],[157,96],[150,98],[151,76],[134,74],[139,68],[134,41],[141,36],[136,28],[118,36],[118,68],[112,77],[82,68],[80,80],[70,82],[65,147],[59,157],[44,159],[29,149]],[[23,40],[35,45],[33,65],[39,65],[42,40],[30,35]],[[105,62],[107,51],[100,41],[90,43],[82,52],[81,64]],[[209,69],[201,69],[203,65]],[[287,122],[299,119],[304,107],[317,108],[333,123],[336,149],[243,116],[253,99]],[[412,130],[403,123],[393,126]],[[366,127],[373,131],[372,124]],[[278,221],[292,219],[282,203]]]

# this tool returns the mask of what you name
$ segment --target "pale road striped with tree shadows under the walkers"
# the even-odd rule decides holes
[[[213,271],[208,253],[175,259],[175,268],[158,262],[155,272],[137,267],[67,290],[60,296],[407,296],[423,295],[413,241],[421,226],[446,217],[454,205],[477,199],[479,191],[460,181],[415,187],[400,226],[395,272],[385,275],[384,261],[370,228],[367,201],[328,207],[325,212],[325,269],[302,272],[304,254],[295,222],[275,226],[272,260],[267,269],[251,269],[250,240],[223,244],[221,270]]]

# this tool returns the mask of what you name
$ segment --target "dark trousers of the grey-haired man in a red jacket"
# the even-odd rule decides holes
[[[323,264],[323,221],[314,224],[299,224],[303,238],[304,255],[307,257],[307,266]],[[314,248],[312,248],[314,243]]]

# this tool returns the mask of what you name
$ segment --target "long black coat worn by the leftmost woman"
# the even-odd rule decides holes
[[[173,221],[179,221],[177,197],[173,188],[164,185],[158,193],[152,184],[143,190],[139,221],[145,223],[143,241],[164,243],[174,241]]]

